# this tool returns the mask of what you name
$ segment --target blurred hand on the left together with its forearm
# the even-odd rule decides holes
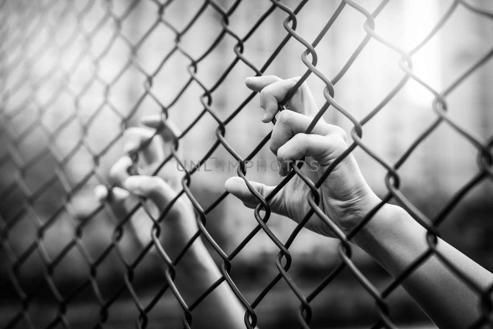
[[[100,185],[96,187],[95,193],[101,202],[107,200],[115,211],[123,207],[125,214],[137,202],[142,201],[141,197],[147,198],[149,201],[145,202],[145,208],[154,208],[151,215],[157,219],[181,191],[184,173],[176,167],[175,159],[170,159],[156,176],[150,175],[159,168],[166,156],[171,154],[174,137],[179,133],[170,120],[167,120],[163,127],[160,115],[143,118],[142,123],[154,130],[129,128],[125,131],[123,139],[127,155],[116,161],[110,170],[110,178],[114,184],[112,192],[109,194],[106,187]],[[156,129],[159,136],[153,137]],[[134,166],[131,158],[138,151],[140,175],[131,176],[129,170]],[[176,154],[181,158],[178,150]],[[151,241],[153,221],[143,211],[134,214],[130,220],[138,240],[143,245],[148,244]],[[174,260],[198,230],[192,204],[186,194],[180,195],[175,201],[162,219],[160,227],[159,242],[168,256]],[[200,237],[181,258],[177,271],[176,287],[188,304],[221,277]],[[218,328],[245,328],[245,310],[226,282],[216,287],[193,310],[193,328],[206,328],[210,323],[211,314],[221,314],[215,319]]]

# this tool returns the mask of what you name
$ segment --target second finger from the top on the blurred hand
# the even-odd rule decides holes
[[[149,129],[129,128],[123,134],[123,149],[128,155],[141,151],[142,157],[148,165],[163,161],[162,142],[159,139],[153,139],[153,137],[154,132]]]

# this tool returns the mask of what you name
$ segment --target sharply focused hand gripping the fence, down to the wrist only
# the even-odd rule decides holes
[[[259,76],[246,79],[248,88],[260,92],[260,107],[265,111],[263,122],[270,122],[278,112],[278,103],[298,81],[298,77],[282,80],[277,76]],[[306,156],[302,171],[316,182],[325,169],[347,148],[345,131],[320,119],[310,134],[305,134],[318,108],[306,83],[303,83],[279,113],[272,132],[270,148],[282,164],[280,175],[286,176],[289,161]],[[250,184],[266,197],[275,186],[262,183]],[[239,177],[230,178],[225,188],[243,203],[254,208],[259,201]],[[354,227],[359,220],[381,200],[364,180],[352,154],[346,156],[330,173],[319,188],[319,207],[343,230]],[[274,213],[299,222],[310,210],[307,200],[309,187],[297,175],[294,176],[269,202]],[[328,225],[317,215],[305,225],[319,234],[334,236]]]

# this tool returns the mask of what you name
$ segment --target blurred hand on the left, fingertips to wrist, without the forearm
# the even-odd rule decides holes
[[[182,189],[181,179],[184,173],[178,170],[176,160],[172,158],[156,176],[150,175],[162,164],[166,156],[171,154],[174,136],[178,136],[179,133],[170,120],[163,125],[160,115],[144,117],[141,121],[154,129],[133,127],[125,131],[123,148],[126,155],[118,159],[109,172],[114,187],[110,195],[103,185],[97,186],[95,193],[101,202],[107,200],[115,211],[121,213],[123,208],[125,214],[138,202],[144,202],[144,208],[150,211],[154,219],[158,219]],[[156,129],[157,136],[154,133]],[[176,153],[179,156],[178,150]],[[131,159],[136,155],[139,159],[138,164],[134,164]],[[139,175],[129,174],[136,170]],[[142,197],[149,201],[144,201]],[[138,240],[142,245],[147,245],[151,241],[154,225],[152,219],[140,210],[130,221]],[[160,227],[160,243],[173,259],[198,229],[192,204],[186,194],[183,193],[175,201],[161,220]],[[192,247],[199,242],[200,239]]]

